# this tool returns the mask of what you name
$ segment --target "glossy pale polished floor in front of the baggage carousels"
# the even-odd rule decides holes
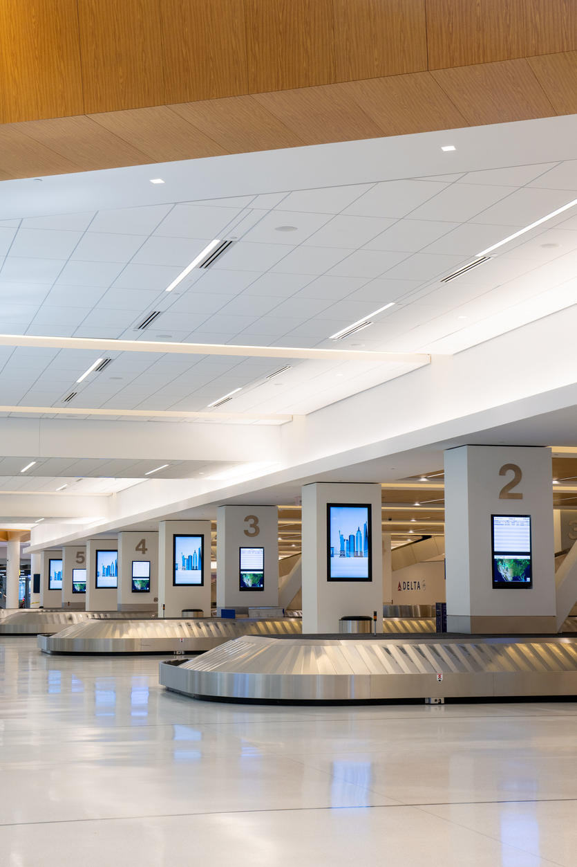
[[[0,638],[2,867],[577,864],[577,704],[250,707]]]

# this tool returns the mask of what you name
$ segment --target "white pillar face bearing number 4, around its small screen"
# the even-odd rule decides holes
[[[138,551],[137,551],[138,545]],[[143,549],[145,549],[143,551]],[[150,592],[133,592],[133,561],[150,561]],[[159,603],[159,534],[123,532],[118,534],[118,610],[157,610]]]

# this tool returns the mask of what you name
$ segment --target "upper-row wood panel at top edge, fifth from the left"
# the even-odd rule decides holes
[[[427,68],[425,0],[334,0],[337,81]]]

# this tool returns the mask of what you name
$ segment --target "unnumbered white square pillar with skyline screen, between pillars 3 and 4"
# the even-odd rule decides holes
[[[203,562],[200,570],[188,568],[189,565],[196,565],[191,561],[198,557],[198,540],[185,539],[182,544],[175,545],[174,538],[178,536],[202,538]],[[188,561],[188,557],[191,557],[191,561]],[[200,574],[195,574],[198,572]],[[160,521],[159,524],[159,617],[163,613],[165,617],[179,617],[185,609],[199,609],[205,617],[211,616],[210,521]]]

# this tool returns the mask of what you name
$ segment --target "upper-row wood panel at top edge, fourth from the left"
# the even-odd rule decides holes
[[[249,93],[334,81],[333,0],[245,0]]]

